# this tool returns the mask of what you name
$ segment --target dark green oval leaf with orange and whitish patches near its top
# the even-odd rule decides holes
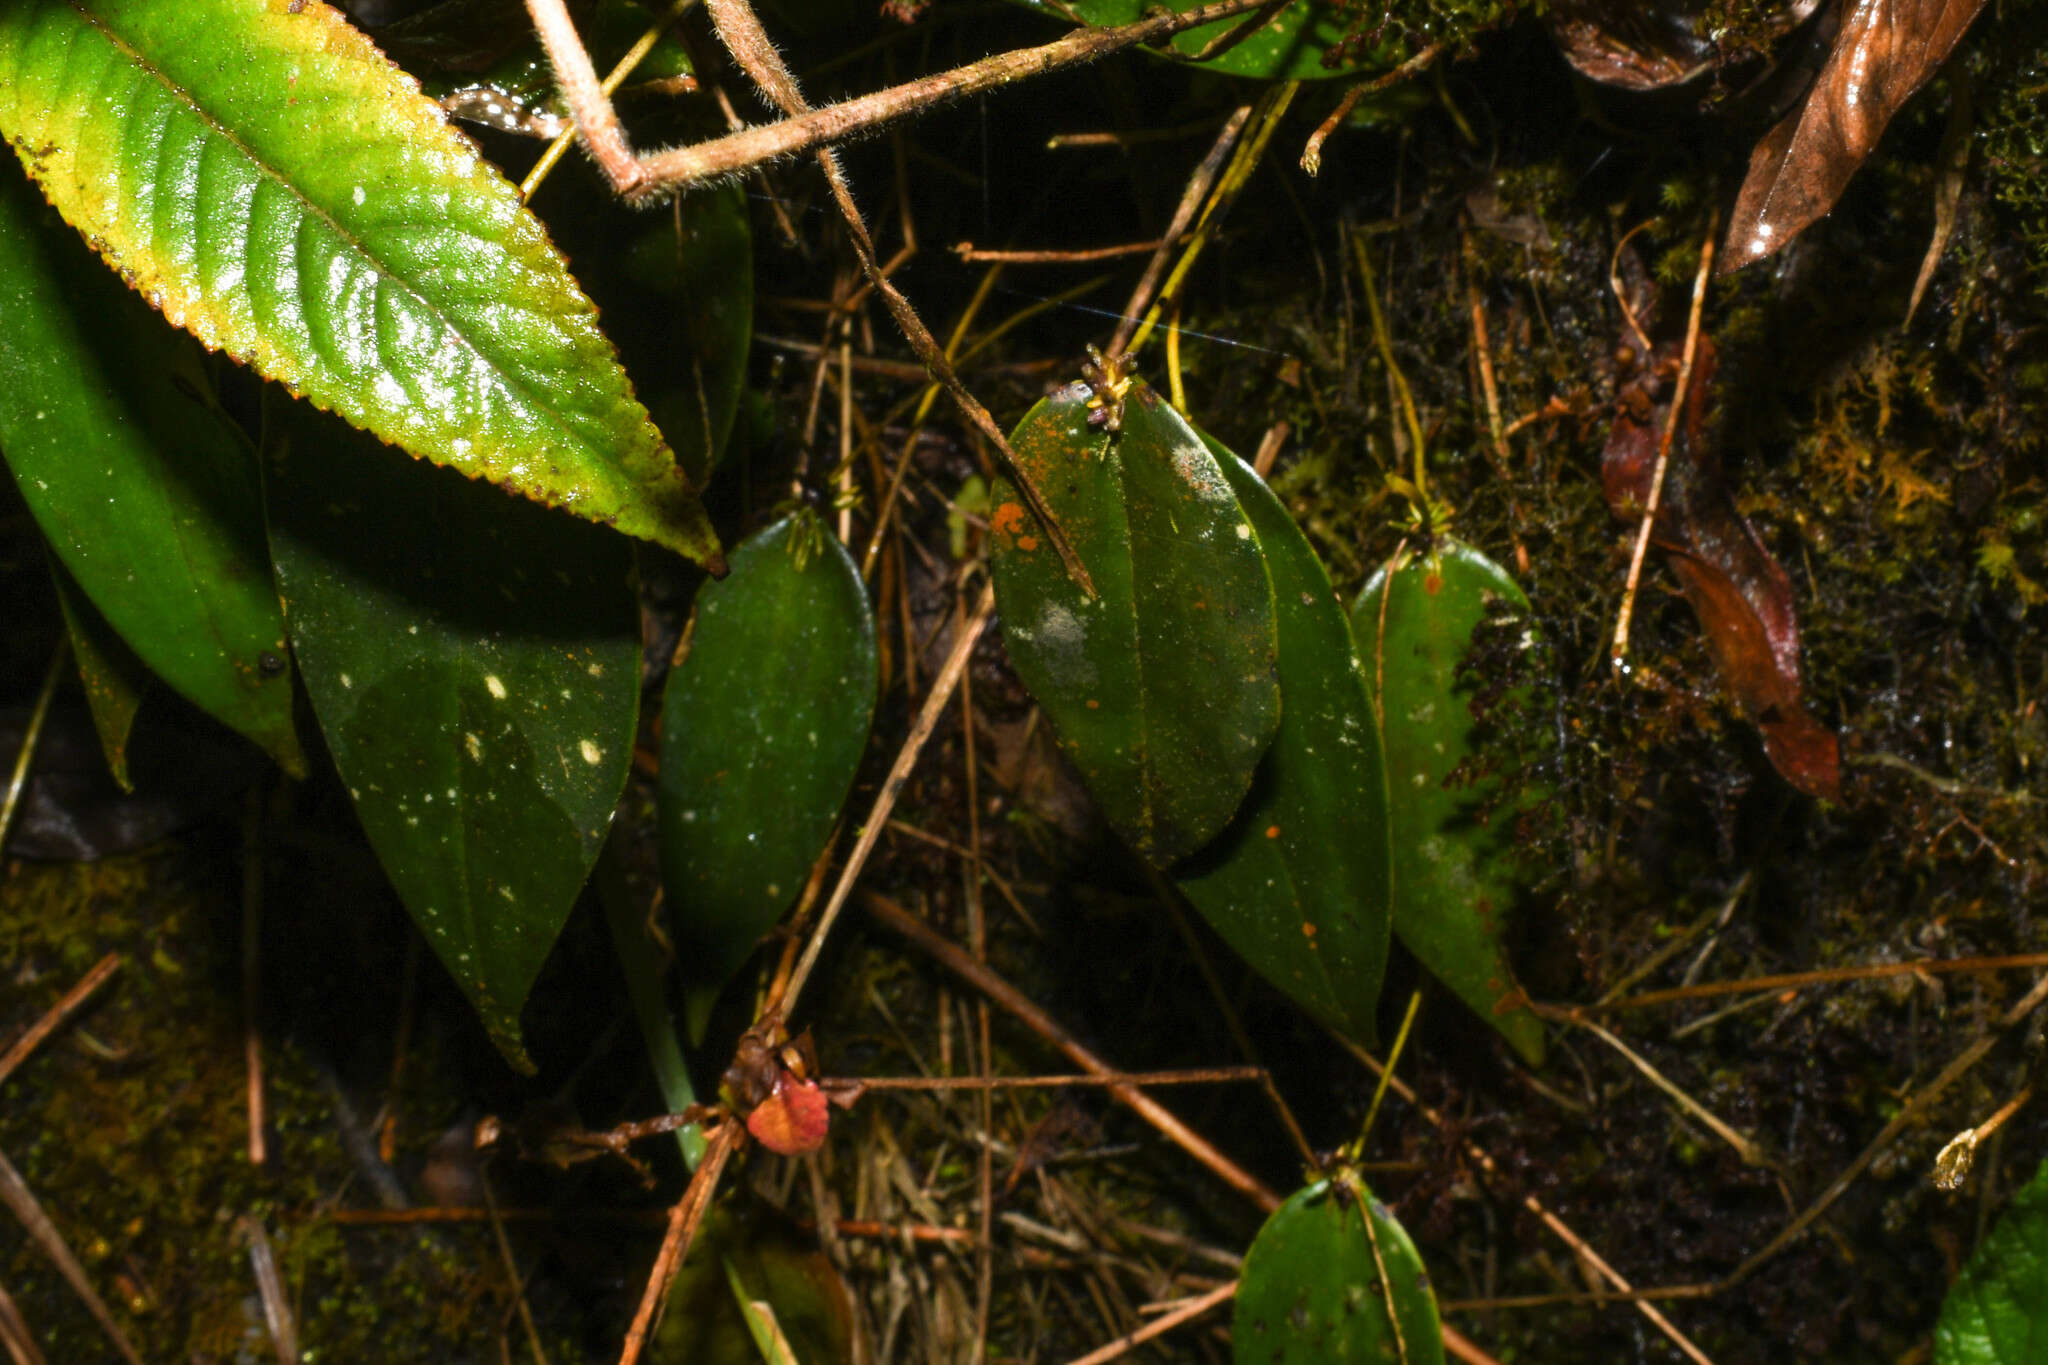
[[[1067,385],[1010,434],[1100,596],[1067,577],[1010,481],[989,532],[1018,677],[1110,827],[1167,868],[1214,839],[1280,726],[1266,557],[1202,438],[1141,381],[1122,432]]]

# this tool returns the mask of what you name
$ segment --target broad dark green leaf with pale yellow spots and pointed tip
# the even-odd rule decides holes
[[[270,548],[319,729],[391,884],[498,1048],[633,757],[631,546],[293,403]]]

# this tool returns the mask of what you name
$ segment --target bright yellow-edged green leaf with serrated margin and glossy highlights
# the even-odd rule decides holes
[[[0,135],[207,346],[412,454],[717,561],[539,221],[322,0],[0,4]]]

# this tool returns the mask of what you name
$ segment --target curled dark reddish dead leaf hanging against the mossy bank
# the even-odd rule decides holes
[[[1634,356],[1634,350],[1628,354]],[[1657,350],[1622,389],[1602,456],[1614,516],[1640,524],[1657,473],[1657,444],[1671,411],[1679,346]],[[1798,614],[1792,579],[1735,510],[1720,452],[1706,440],[1714,344],[1700,338],[1686,420],[1671,442],[1651,540],[1665,553],[1706,626],[1714,663],[1763,735],[1780,776],[1810,796],[1839,798],[1841,753],[1800,700]]]

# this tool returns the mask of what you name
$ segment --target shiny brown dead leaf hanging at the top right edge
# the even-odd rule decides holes
[[[1749,158],[1722,274],[1769,256],[1835,207],[1884,125],[1982,8],[1985,0],[1843,0],[1835,49],[1812,90]]]

